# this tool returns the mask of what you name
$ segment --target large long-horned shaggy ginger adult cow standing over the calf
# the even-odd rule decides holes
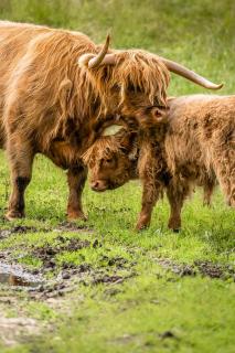
[[[78,32],[0,23],[0,114],[12,178],[8,220],[24,215],[35,153],[68,169],[67,214],[84,218],[81,156],[94,140],[95,125],[116,114],[153,120],[156,106],[165,105],[169,71],[221,87],[157,55],[108,51],[108,44],[109,38],[100,50]]]

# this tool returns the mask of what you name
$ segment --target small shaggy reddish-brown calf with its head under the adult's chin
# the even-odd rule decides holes
[[[171,206],[172,229],[180,228],[183,202],[195,185],[204,186],[209,203],[218,181],[228,205],[235,207],[235,96],[185,96],[171,99],[165,120],[156,127],[115,126],[117,132],[106,128],[106,136],[84,156],[95,191],[140,178],[138,229],[149,225],[163,191]]]

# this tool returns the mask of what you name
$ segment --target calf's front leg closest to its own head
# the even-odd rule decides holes
[[[136,226],[137,231],[147,228],[150,225],[152,210],[159,199],[161,190],[160,188],[156,188],[149,180],[145,180],[142,186],[142,205]]]

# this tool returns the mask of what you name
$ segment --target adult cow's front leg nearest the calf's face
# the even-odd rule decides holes
[[[82,193],[86,182],[87,169],[83,165],[68,169],[68,201],[67,201],[67,218],[86,221],[83,212]]]

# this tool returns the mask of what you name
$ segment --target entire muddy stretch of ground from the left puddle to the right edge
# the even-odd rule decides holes
[[[38,233],[52,234],[53,242],[28,244],[24,240]],[[138,265],[142,256],[159,266],[161,271],[157,276],[158,279],[168,274],[169,281],[196,276],[223,281],[235,280],[234,267],[226,264],[194,260],[189,265],[163,258],[161,255],[158,256],[158,252],[139,247],[128,247],[124,257],[114,256],[106,242],[96,237],[94,229],[85,225],[63,222],[54,228],[39,229],[17,225],[0,231],[1,242],[8,242],[10,237],[18,238],[20,252],[18,248],[15,253],[15,245],[6,246],[0,250],[0,339],[7,346],[26,342],[30,336],[40,336],[44,331],[53,331],[50,320],[42,323],[29,317],[24,310],[24,302],[31,306],[43,303],[58,314],[67,315],[72,310],[70,302],[81,286],[92,288],[103,285],[104,295],[109,298],[121,292],[120,284],[130,278],[138,278]],[[93,256],[97,255],[98,260],[87,260],[84,250],[92,252]],[[66,254],[64,259],[60,258],[62,254]],[[70,260],[71,255],[75,256],[73,260]],[[40,265],[29,266],[25,258]],[[76,295],[75,300],[83,301],[84,298]],[[12,312],[12,308],[18,317],[6,315],[6,312]],[[174,333],[169,330],[159,334],[159,338],[172,339]]]

